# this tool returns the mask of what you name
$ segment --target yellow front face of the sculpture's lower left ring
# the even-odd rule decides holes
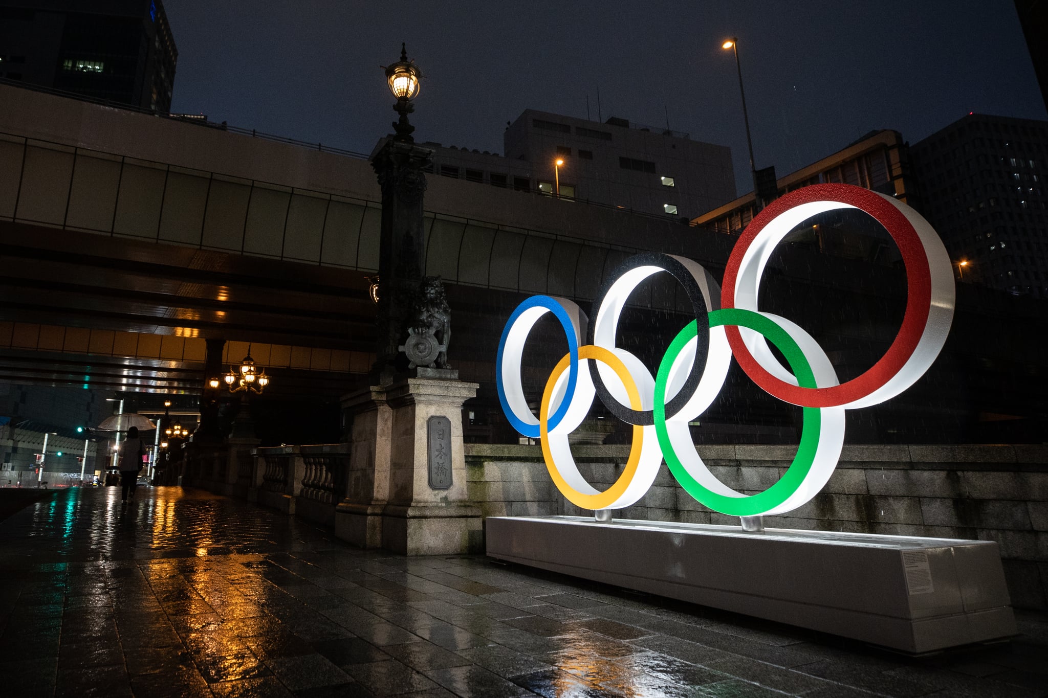
[[[578,359],[601,361],[614,370],[615,375],[618,376],[618,380],[623,381],[623,385],[626,386],[626,393],[630,398],[630,408],[640,409],[640,393],[637,391],[637,385],[633,382],[630,371],[626,369],[626,364],[617,356],[603,346],[587,344],[578,347]],[[556,489],[561,491],[561,494],[568,501],[581,509],[594,511],[611,509],[615,501],[626,492],[626,489],[630,487],[630,482],[633,481],[633,477],[636,475],[637,465],[640,463],[640,450],[643,445],[643,427],[636,424],[633,425],[633,446],[630,449],[630,457],[626,461],[626,469],[618,476],[618,479],[615,480],[614,485],[599,494],[584,494],[568,485],[564,477],[561,476],[556,464],[553,463],[553,456],[549,452],[549,428],[547,422],[549,420],[549,402],[553,396],[553,385],[561,374],[567,369],[570,362],[571,355],[566,354],[556,366],[553,367],[553,373],[550,374],[549,380],[546,381],[546,389],[542,393],[542,405],[539,408],[539,437],[542,441],[542,455],[546,460],[546,469],[549,470],[549,476],[553,478]],[[565,396],[565,400],[570,399],[571,396]]]

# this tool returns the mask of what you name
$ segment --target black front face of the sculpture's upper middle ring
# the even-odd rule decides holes
[[[615,273],[609,276],[609,279],[611,280],[605,282],[604,286],[601,288],[601,295],[598,296],[601,301],[599,305],[597,305],[593,310],[592,317],[594,319],[589,323],[589,332],[587,333],[586,343],[596,343],[593,341],[594,333],[596,331],[596,318],[601,317],[601,307],[608,297],[608,291],[611,290],[611,287],[614,286],[615,282],[617,282],[623,274],[632,269],[636,269],[637,267],[658,267],[660,270],[668,272],[671,276],[676,278],[677,282],[684,287],[687,299],[692,302],[692,310],[695,311],[697,341],[695,347],[695,361],[692,363],[692,370],[687,375],[687,380],[680,388],[680,391],[677,392],[673,400],[667,403],[665,413],[667,415],[672,415],[679,412],[681,408],[687,404],[687,401],[692,399],[695,391],[698,390],[699,381],[702,380],[702,374],[705,370],[706,356],[709,354],[709,311],[706,308],[706,300],[702,297],[702,290],[699,288],[698,282],[694,276],[692,276],[692,273],[683,264],[680,263],[679,260],[660,252],[642,252],[640,254],[634,254],[623,262],[623,264],[620,264],[615,270]],[[601,402],[604,403],[604,406],[608,408],[608,411],[627,424],[634,424],[642,427],[655,424],[655,414],[652,410],[631,409],[615,400],[605,386],[604,381],[601,379],[601,371],[597,370],[596,361],[590,361],[589,364],[590,376],[593,378],[593,386],[596,388],[596,395],[601,398]]]

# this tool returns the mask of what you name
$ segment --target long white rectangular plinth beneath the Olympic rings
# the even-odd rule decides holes
[[[997,543],[489,517],[487,555],[920,654],[1016,634]]]

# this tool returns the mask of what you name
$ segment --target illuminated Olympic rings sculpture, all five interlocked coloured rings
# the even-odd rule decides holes
[[[802,221],[837,208],[866,211],[888,230],[902,255],[908,292],[902,324],[887,353],[845,383],[807,332],[757,307],[761,277],[776,246]],[[659,272],[681,284],[695,320],[673,339],[652,376],[636,356],[615,345],[615,335],[630,294]],[[592,322],[567,298],[538,295],[524,300],[510,315],[499,342],[499,401],[521,434],[541,440],[558,490],[582,509],[635,503],[651,488],[664,458],[681,487],[714,511],[732,516],[783,514],[809,501],[832,475],[844,445],[845,410],[899,395],[932,365],[949,333],[954,291],[946,249],[917,211],[857,186],[808,186],[773,201],[743,231],[728,258],[723,289],[698,263],[652,252],[628,258],[610,277]],[[560,321],[568,353],[550,374],[536,415],[521,384],[521,358],[528,333],[546,313]],[[768,342],[782,353],[787,366]],[[689,422],[719,393],[733,357],[766,392],[804,408],[793,461],[778,482],[752,495],[718,480],[696,452],[689,431]],[[594,397],[633,425],[626,468],[603,492],[586,481],[568,446],[568,434],[586,418]]]

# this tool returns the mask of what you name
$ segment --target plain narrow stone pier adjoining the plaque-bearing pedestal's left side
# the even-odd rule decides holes
[[[372,386],[342,398],[352,445],[345,499],[334,514],[335,536],[361,547],[383,544],[383,509],[389,497],[393,413],[386,388]]]

